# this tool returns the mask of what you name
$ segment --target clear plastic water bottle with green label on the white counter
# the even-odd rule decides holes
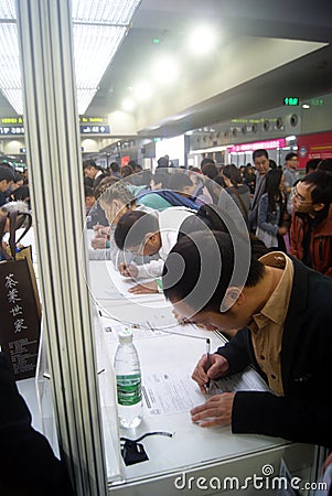
[[[119,345],[115,354],[118,414],[120,425],[136,428],[142,419],[141,370],[131,331],[119,332]]]

